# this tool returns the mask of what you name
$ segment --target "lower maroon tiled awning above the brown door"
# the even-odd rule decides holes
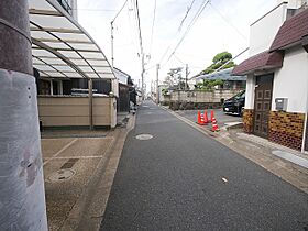
[[[245,75],[258,69],[282,67],[284,55],[279,52],[268,53],[268,51],[254,55],[240,65],[235,66],[232,75]]]

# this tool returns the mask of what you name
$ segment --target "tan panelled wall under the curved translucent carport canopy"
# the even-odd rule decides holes
[[[113,98],[94,97],[94,125],[113,127]],[[89,125],[87,97],[38,97],[38,116],[43,127]]]

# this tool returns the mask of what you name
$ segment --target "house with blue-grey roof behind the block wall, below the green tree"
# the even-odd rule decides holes
[[[196,84],[202,80],[223,80],[223,89],[245,89],[246,76],[231,75],[233,67],[196,77]]]

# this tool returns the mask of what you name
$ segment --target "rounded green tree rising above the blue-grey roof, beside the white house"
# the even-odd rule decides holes
[[[220,68],[222,65],[224,65],[227,62],[232,59],[232,54],[229,52],[221,52],[218,53],[213,58],[212,58],[212,64],[208,66],[205,70],[200,73],[200,75],[204,74],[210,74]],[[226,66],[222,67],[222,69],[227,69],[230,67],[237,66],[233,61],[228,63]]]

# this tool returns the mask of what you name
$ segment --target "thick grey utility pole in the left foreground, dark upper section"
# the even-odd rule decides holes
[[[0,1],[0,230],[46,231],[28,1]]]

